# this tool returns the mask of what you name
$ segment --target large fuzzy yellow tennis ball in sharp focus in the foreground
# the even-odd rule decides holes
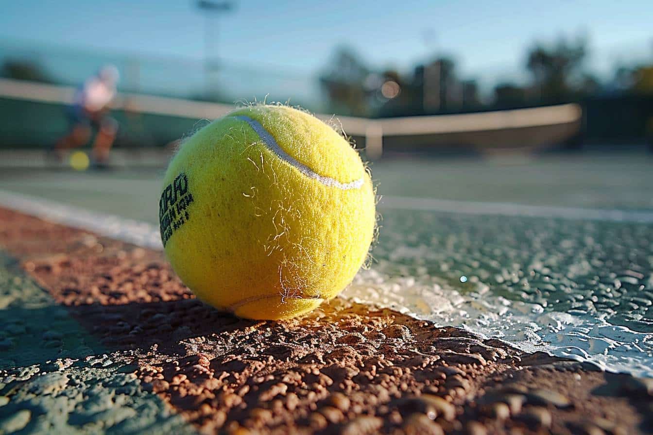
[[[374,235],[375,195],[336,130],[300,110],[257,105],[182,143],[159,221],[167,258],[197,297],[277,320],[351,282]]]

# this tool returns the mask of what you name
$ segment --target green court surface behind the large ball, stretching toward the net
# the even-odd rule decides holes
[[[653,155],[387,159],[350,297],[653,376]],[[159,170],[7,170],[0,189],[157,225]]]

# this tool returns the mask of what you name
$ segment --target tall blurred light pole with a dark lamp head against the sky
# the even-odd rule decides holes
[[[204,90],[205,97],[210,97],[217,89],[218,68],[216,50],[217,16],[221,13],[231,12],[234,3],[231,1],[197,0],[197,8],[206,16],[204,21]]]

